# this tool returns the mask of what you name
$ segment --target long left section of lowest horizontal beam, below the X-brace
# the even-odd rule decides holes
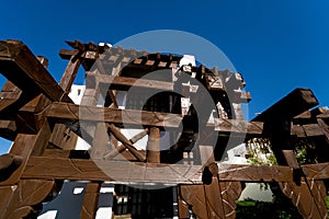
[[[200,166],[32,157],[22,177],[191,184],[202,183],[197,168]]]

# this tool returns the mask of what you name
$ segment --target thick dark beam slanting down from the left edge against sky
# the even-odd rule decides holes
[[[19,41],[0,41],[0,71],[22,91],[72,103],[32,51]]]

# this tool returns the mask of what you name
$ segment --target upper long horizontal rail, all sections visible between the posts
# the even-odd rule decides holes
[[[104,123],[115,123],[128,126],[136,125],[150,125],[157,127],[168,127],[177,128],[179,127],[182,117],[179,114],[167,114],[167,113],[156,113],[156,112],[140,112],[134,110],[116,110],[116,108],[102,108],[102,107],[91,107],[83,105],[75,105],[67,103],[53,103],[47,112],[46,116],[53,119],[64,120],[91,120],[91,122],[104,122]],[[79,118],[81,116],[81,118]],[[141,120],[140,120],[141,118]],[[249,135],[249,136],[264,136],[263,123],[261,122],[247,122],[237,119],[225,119],[215,118],[215,124],[208,124],[209,127],[214,127],[215,130],[220,134],[231,134],[235,135]],[[321,129],[318,125],[311,125],[315,127],[313,129],[311,136],[324,136]],[[303,129],[302,131],[299,129]],[[307,137],[307,131],[305,132],[304,126],[293,126],[291,135],[297,135],[297,137]],[[315,132],[317,131],[317,132]]]

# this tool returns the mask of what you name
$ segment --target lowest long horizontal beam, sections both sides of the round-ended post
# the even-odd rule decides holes
[[[293,182],[288,166],[218,165],[219,181]],[[202,165],[32,157],[22,178],[203,184],[202,170]]]

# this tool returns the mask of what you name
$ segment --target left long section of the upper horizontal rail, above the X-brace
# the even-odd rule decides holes
[[[178,114],[144,112],[133,110],[102,108],[93,106],[75,105],[67,103],[53,103],[46,116],[59,120],[90,120],[125,125],[149,125],[157,127],[177,128],[182,117]]]

